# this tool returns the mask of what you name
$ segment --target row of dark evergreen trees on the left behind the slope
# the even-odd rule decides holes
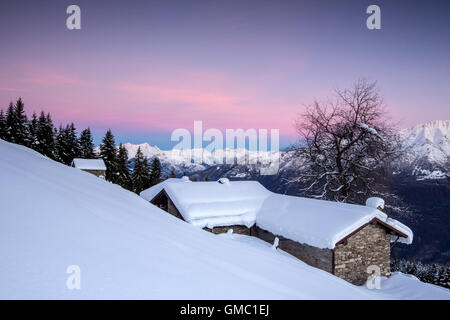
[[[111,130],[103,137],[97,154],[90,128],[79,135],[73,122],[56,128],[50,113],[44,111],[39,116],[33,113],[29,119],[21,98],[15,104],[11,102],[6,111],[0,109],[0,139],[29,147],[69,166],[74,158],[102,158],[106,165],[105,179],[138,194],[162,181],[159,159],[154,158],[149,167],[140,149],[131,170],[128,152],[122,144],[116,147]]]

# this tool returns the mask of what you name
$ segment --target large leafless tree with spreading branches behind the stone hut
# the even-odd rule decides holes
[[[361,203],[387,196],[389,163],[400,151],[376,82],[358,80],[336,90],[336,99],[315,101],[296,121],[303,163],[297,181],[309,196]]]

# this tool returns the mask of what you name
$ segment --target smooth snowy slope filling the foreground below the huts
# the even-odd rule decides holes
[[[400,291],[353,286],[270,248],[199,230],[2,140],[0,204],[2,299],[450,299],[448,290],[414,279]],[[81,268],[81,290],[66,288],[69,265]]]

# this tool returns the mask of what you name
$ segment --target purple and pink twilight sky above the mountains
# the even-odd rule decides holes
[[[64,1],[2,3],[0,108],[22,97],[29,115],[90,127],[96,145],[111,128],[168,150],[202,120],[279,129],[286,148],[306,105],[365,77],[400,128],[449,119],[450,5],[374,1],[382,28],[368,30],[372,2],[80,0],[81,30],[67,30]]]

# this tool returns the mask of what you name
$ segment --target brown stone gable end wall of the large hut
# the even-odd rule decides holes
[[[334,274],[348,282],[364,284],[370,265],[390,276],[390,236],[380,225],[368,224],[334,249]]]

